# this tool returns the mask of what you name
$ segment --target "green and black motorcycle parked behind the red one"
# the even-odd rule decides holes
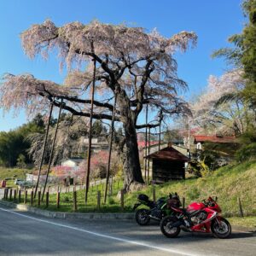
[[[157,201],[150,201],[148,199],[148,195],[140,194],[137,196],[137,202],[133,207],[133,211],[140,206],[146,206],[146,208],[138,209],[136,212],[136,221],[139,225],[146,225],[149,223],[150,219],[154,219],[155,221],[159,221],[166,217],[172,216],[172,210],[168,209],[167,202],[177,198],[177,207],[181,206],[179,198],[177,194],[172,195],[170,194],[167,197],[160,197]]]

